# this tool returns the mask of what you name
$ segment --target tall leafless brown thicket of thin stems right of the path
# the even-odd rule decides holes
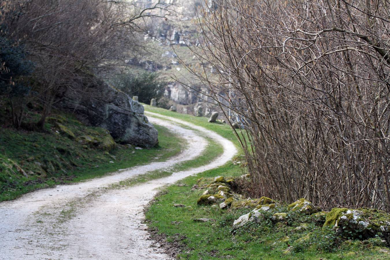
[[[252,196],[390,210],[389,12],[387,0],[199,9],[203,66],[188,69],[242,118]]]

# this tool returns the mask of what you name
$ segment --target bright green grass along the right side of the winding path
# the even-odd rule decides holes
[[[147,111],[182,119],[213,130],[225,138],[237,141],[228,126],[207,123],[204,117],[192,117],[147,106]],[[388,248],[380,239],[366,241],[339,239],[334,232],[308,224],[306,230],[292,232],[294,225],[273,225],[269,221],[233,230],[234,219],[248,209],[221,210],[219,207],[199,206],[197,199],[204,189],[191,190],[200,177],[237,176],[242,171],[233,163],[190,176],[181,185],[172,185],[156,197],[146,212],[146,219],[156,237],[170,243],[170,252],[177,250],[184,259],[390,259]],[[185,184],[183,186],[182,184]],[[184,204],[185,208],[174,207]],[[215,221],[194,222],[197,218]],[[305,221],[302,216],[299,221]],[[158,234],[158,235],[157,235]],[[300,239],[303,238],[303,239]],[[291,251],[286,250],[291,247]]]

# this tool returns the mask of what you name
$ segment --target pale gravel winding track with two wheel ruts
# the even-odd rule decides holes
[[[42,189],[0,203],[0,259],[169,259],[153,245],[142,224],[145,205],[159,188],[221,166],[237,150],[232,142],[203,127],[155,113],[147,115],[153,124],[165,126],[185,138],[188,147],[164,162],[120,170],[74,185]],[[207,145],[202,136],[221,143],[222,156],[207,165],[137,186],[106,188],[198,157]]]

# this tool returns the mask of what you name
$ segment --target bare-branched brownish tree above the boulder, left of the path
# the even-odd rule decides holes
[[[90,74],[124,66],[142,51],[147,18],[164,17],[171,4],[107,0],[3,0],[2,24],[35,62],[33,87],[43,129],[58,90]]]

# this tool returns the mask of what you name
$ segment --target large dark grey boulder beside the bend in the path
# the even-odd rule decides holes
[[[91,126],[107,129],[116,142],[152,147],[158,143],[157,130],[144,115],[144,107],[104,81],[65,88],[58,96],[61,109],[74,112]]]

